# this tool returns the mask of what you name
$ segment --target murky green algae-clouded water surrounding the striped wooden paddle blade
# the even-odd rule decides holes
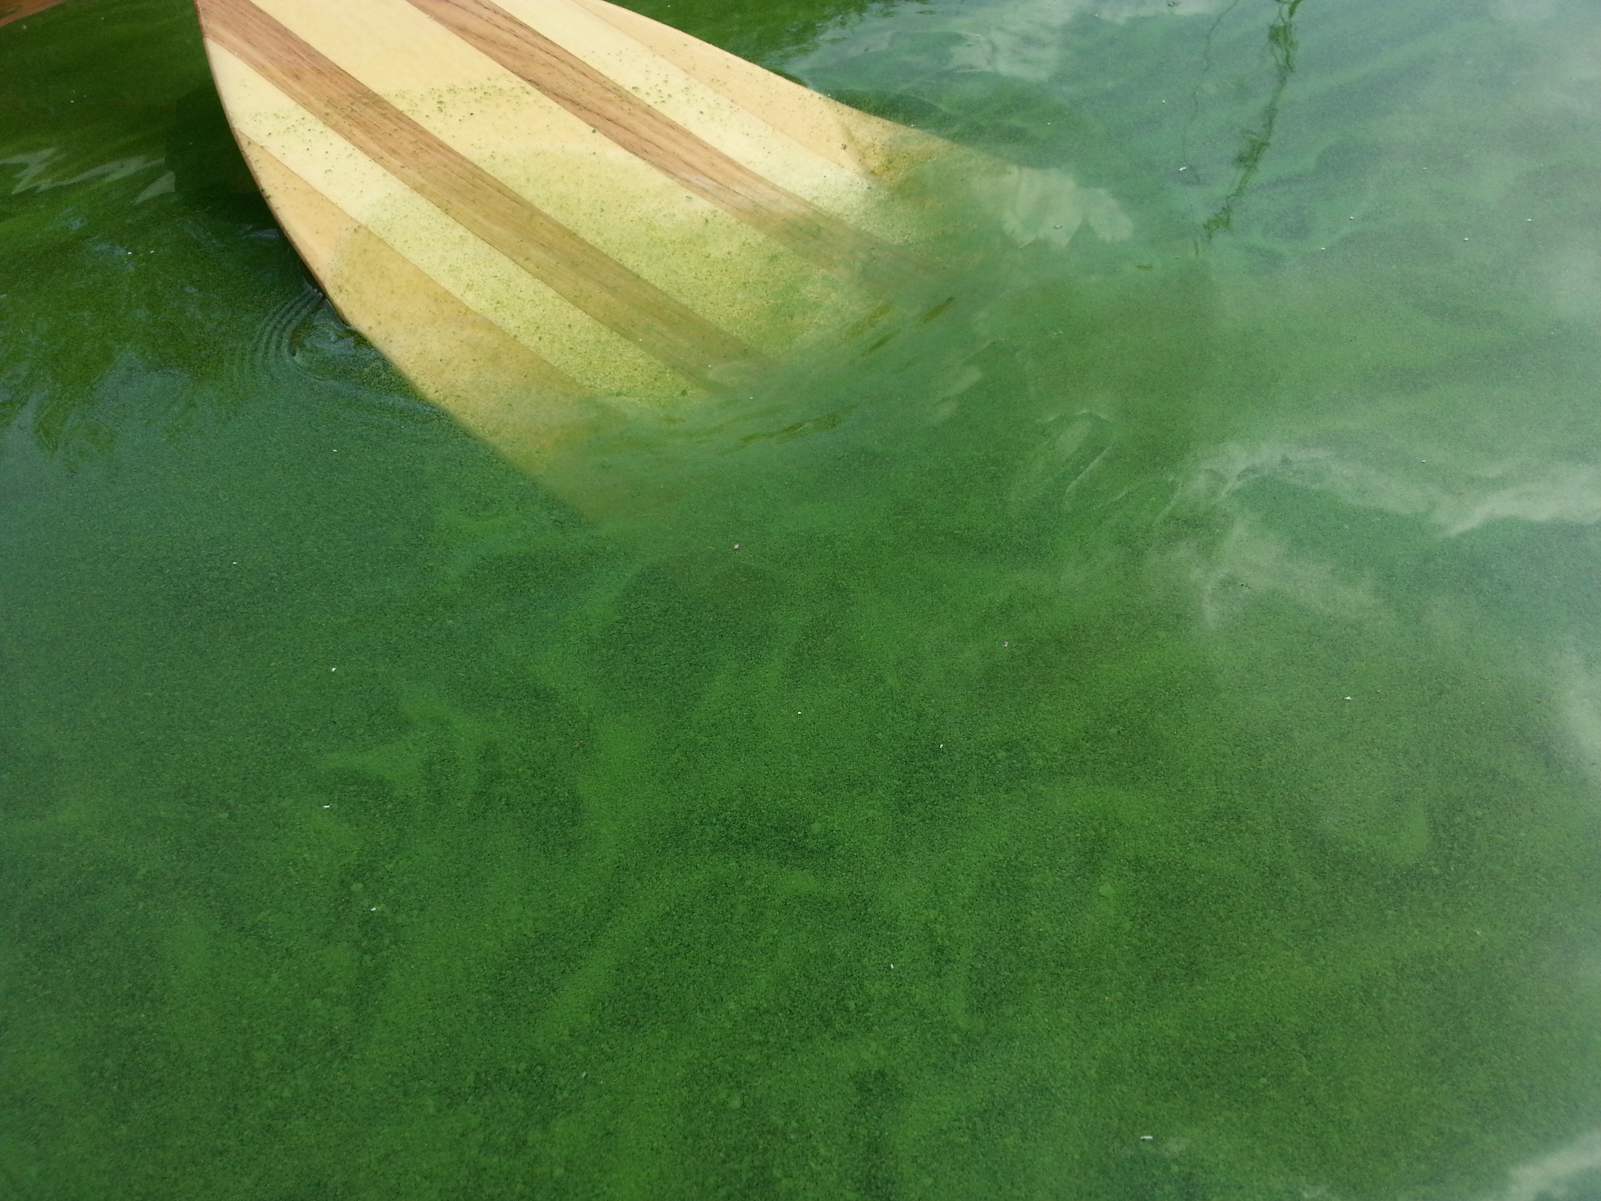
[[[596,525],[0,29],[0,1198],[1601,1196],[1601,11],[639,6],[1134,235]]]

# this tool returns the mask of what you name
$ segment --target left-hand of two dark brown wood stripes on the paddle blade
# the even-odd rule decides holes
[[[757,355],[540,211],[250,0],[200,0],[207,37],[557,295],[703,384]]]

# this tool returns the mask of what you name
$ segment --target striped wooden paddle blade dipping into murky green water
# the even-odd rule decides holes
[[[671,404],[916,275],[892,186],[945,143],[604,0],[197,0],[311,271],[538,468],[583,397]]]

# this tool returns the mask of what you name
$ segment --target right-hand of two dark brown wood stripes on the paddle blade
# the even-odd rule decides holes
[[[849,274],[898,253],[730,159],[495,0],[411,3],[629,154],[825,271]]]

